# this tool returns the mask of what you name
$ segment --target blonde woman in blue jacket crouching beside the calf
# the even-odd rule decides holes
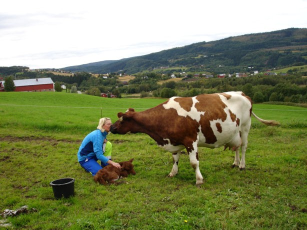
[[[119,163],[111,160],[112,144],[106,139],[111,124],[110,118],[100,118],[97,129],[87,134],[79,147],[78,161],[81,167],[93,176],[107,164],[120,168]],[[101,165],[97,162],[98,159],[101,161]]]

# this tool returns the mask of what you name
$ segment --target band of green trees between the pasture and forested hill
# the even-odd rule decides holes
[[[30,74],[29,74],[30,73]],[[305,72],[292,72],[280,75],[253,75],[247,77],[226,78],[193,78],[192,75],[180,81],[169,81],[169,74],[147,72],[136,74],[128,82],[118,80],[116,73],[109,73],[107,78],[103,75],[93,76],[87,72],[66,75],[54,75],[51,72],[23,72],[17,75],[18,79],[33,77],[50,77],[55,82],[55,89],[61,90],[64,84],[71,89],[69,92],[80,90],[84,93],[99,96],[101,92],[112,93],[117,97],[121,94],[140,93],[141,97],[154,96],[168,98],[171,96],[195,96],[201,93],[214,93],[221,91],[243,91],[254,102],[283,101],[306,103],[307,77]],[[10,76],[11,77],[11,76]],[[159,84],[159,81],[166,80]],[[11,85],[12,78],[7,81]]]

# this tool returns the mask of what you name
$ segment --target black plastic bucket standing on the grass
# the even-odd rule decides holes
[[[55,198],[68,198],[74,194],[74,178],[61,178],[50,182]]]

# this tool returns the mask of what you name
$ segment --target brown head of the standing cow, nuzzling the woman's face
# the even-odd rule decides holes
[[[125,134],[131,131],[133,128],[133,114],[135,113],[133,108],[128,108],[127,111],[118,112],[118,120],[115,121],[110,127],[110,131],[114,134]]]

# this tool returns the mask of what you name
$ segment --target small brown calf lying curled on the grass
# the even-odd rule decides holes
[[[132,164],[133,158],[127,161],[119,162],[120,169],[108,164],[94,175],[93,179],[95,182],[106,185],[107,183],[114,183],[120,177],[127,177],[128,174],[135,175]]]

